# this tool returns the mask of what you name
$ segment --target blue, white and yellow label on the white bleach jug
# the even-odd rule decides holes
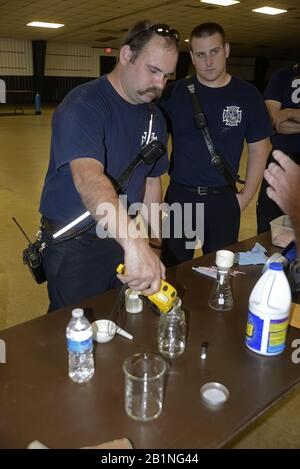
[[[255,352],[277,355],[283,352],[288,328],[288,317],[262,319],[251,311],[248,313],[246,345]]]

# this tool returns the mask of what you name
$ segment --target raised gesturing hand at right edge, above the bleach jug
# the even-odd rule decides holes
[[[267,194],[281,210],[289,215],[300,254],[300,166],[280,150],[273,151],[276,163],[270,163],[264,177],[270,186]]]

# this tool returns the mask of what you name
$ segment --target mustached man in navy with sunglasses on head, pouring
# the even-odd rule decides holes
[[[157,108],[149,110],[149,103],[174,73],[178,40],[177,31],[167,25],[139,22],[128,32],[114,70],[72,90],[54,113],[40,204],[43,237],[89,211],[98,224],[101,220],[108,224],[114,239],[100,239],[93,230],[44,249],[49,311],[116,286],[120,262],[126,270],[118,277],[129,287],[145,294],[160,288],[165,267],[138,227],[132,229],[112,181],[118,180],[142,146],[153,140],[166,143],[163,116]],[[128,201],[144,202],[149,209],[159,203],[160,175],[167,168],[166,154],[155,164],[139,165],[126,191]],[[105,216],[104,206],[109,207]],[[159,243],[160,233],[156,234]]]

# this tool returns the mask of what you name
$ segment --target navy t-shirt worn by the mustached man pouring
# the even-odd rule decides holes
[[[159,109],[153,109],[150,141],[158,139],[166,145],[165,121]],[[106,76],[74,88],[53,115],[50,162],[40,212],[58,224],[84,213],[86,208],[75,188],[70,161],[95,158],[103,164],[105,174],[117,180],[146,143],[150,116],[147,104],[125,101]],[[146,178],[160,176],[167,169],[166,154],[154,165],[142,163],[130,180],[129,202],[142,201]]]

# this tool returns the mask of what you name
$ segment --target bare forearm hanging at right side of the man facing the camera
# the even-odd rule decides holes
[[[262,181],[270,147],[269,138],[248,143],[246,183],[243,190],[236,194],[241,211],[249,205]]]

